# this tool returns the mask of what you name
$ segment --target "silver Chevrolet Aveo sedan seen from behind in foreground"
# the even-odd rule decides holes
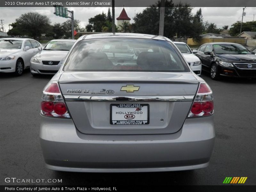
[[[212,90],[162,36],[80,37],[43,90],[41,118],[57,171],[204,168],[215,137]]]

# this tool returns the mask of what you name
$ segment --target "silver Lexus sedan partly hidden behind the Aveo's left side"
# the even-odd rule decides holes
[[[55,74],[73,46],[74,39],[54,39],[44,49],[31,58],[30,72],[33,76]]]

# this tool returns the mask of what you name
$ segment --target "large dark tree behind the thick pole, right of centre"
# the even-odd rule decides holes
[[[134,24],[132,30],[136,33],[146,33],[158,35],[159,32],[159,16],[161,2],[137,13],[133,18]],[[192,33],[192,8],[189,4],[174,4],[172,0],[165,1],[164,13],[164,36],[172,38],[177,36],[191,36]]]

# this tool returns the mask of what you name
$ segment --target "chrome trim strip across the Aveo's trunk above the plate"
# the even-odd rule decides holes
[[[91,96],[63,95],[66,101],[193,101],[194,95],[173,96]]]

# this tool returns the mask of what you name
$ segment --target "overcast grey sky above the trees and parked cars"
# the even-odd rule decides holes
[[[200,7],[193,8],[193,14]],[[69,10],[74,11],[75,19],[80,20],[80,26],[85,27],[88,24],[88,19],[100,14],[102,12],[107,13],[108,7],[69,7]],[[119,16],[123,7],[116,7],[116,18]],[[135,12],[142,12],[145,7],[125,7],[125,10],[128,16],[132,19],[135,16]],[[4,20],[4,29],[7,32],[9,30],[8,25],[12,22],[15,22],[15,19],[18,18],[21,14],[36,11],[41,14],[48,16],[53,23],[62,23],[65,22],[66,18],[61,18],[53,14],[53,7],[0,7],[0,19]],[[202,7],[202,13],[204,21],[209,23],[215,23],[218,28],[221,28],[224,25],[231,26],[232,23],[237,20],[242,19],[242,7]],[[254,20],[256,20],[256,7],[246,7],[245,9],[246,16],[244,17],[244,22],[252,21],[253,14]],[[133,19],[131,20],[131,23]]]

